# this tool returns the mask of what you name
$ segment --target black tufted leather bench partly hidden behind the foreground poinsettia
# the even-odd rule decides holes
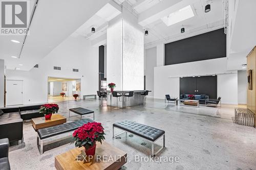
[[[42,139],[46,139],[52,136],[56,136],[62,133],[74,131],[78,129],[83,124],[87,124],[88,122],[94,122],[90,118],[76,120],[74,122],[56,125],[48,128],[38,129],[37,130],[37,147],[39,149],[40,154],[44,153],[44,143]]]

